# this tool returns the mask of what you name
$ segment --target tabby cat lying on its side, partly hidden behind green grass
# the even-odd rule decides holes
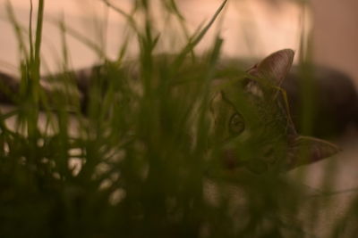
[[[212,99],[209,114],[212,119],[212,136],[209,144],[210,147],[217,149],[216,153],[221,153],[220,157],[226,168],[246,167],[257,173],[267,170],[286,171],[339,152],[334,144],[302,136],[296,132],[286,103],[285,90],[281,88],[291,69],[293,59],[293,51],[282,50],[272,53],[246,73],[225,64],[219,64],[217,70],[214,70],[216,79],[211,86],[213,89],[210,95]],[[170,63],[170,61],[166,62],[167,60],[165,55],[160,56],[158,67],[165,67]],[[130,78],[133,81],[145,77],[145,75],[138,75],[138,70],[135,68],[135,65],[133,69],[126,66],[119,75],[132,74]],[[181,71],[183,74],[207,73],[201,69],[200,63],[189,61],[183,65],[183,68],[184,70]],[[108,82],[102,79],[111,79],[110,69],[106,66],[96,66],[44,77],[44,79],[74,78],[74,83],[81,94],[81,110],[87,113],[88,104],[93,100],[91,90],[93,88],[97,90],[98,87],[99,91],[106,90]],[[118,72],[115,75],[118,76]],[[180,75],[174,77],[176,83],[181,83]],[[9,85],[8,92],[19,91],[19,86],[13,84],[11,77],[4,75],[2,78],[4,84]],[[147,86],[146,83],[154,86],[163,84],[156,81],[145,82],[144,87]],[[139,91],[142,89],[140,88]],[[52,90],[45,89],[49,98]],[[9,103],[11,100],[3,102]]]

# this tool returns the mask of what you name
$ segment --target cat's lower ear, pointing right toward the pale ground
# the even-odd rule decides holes
[[[299,135],[290,144],[290,150],[286,161],[286,169],[296,168],[304,164],[311,164],[328,158],[342,150],[327,141],[310,136]]]

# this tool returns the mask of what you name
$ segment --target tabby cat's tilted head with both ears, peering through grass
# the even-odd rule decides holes
[[[334,144],[297,134],[280,87],[293,59],[289,49],[272,53],[245,77],[222,80],[217,87],[210,109],[215,143],[227,168],[285,171],[340,151]]]

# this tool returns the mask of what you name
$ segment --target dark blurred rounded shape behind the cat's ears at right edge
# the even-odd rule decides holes
[[[310,71],[307,75],[294,67],[282,85],[297,127],[304,130],[306,113],[311,124],[306,133],[311,135],[332,137],[344,134],[350,127],[357,128],[358,94],[352,78],[323,66]]]

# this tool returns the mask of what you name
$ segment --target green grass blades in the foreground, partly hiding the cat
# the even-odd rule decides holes
[[[162,38],[150,17],[155,6],[137,1],[126,13],[104,1],[127,21],[127,41],[138,41],[132,61],[124,61],[126,44],[108,61],[100,47],[60,21],[64,70],[66,34],[104,62],[92,78],[85,115],[81,98],[70,92],[71,73],[54,79],[64,90],[47,94],[39,86],[44,2],[38,1],[28,41],[8,4],[21,51],[21,90],[15,109],[0,115],[0,237],[310,237],[296,218],[307,200],[301,185],[278,173],[228,171],[221,145],[212,144],[211,83],[245,73],[220,68],[222,38],[204,55],[195,47],[226,2],[189,34],[175,1],[162,1],[163,15],[180,23],[186,43],[158,56]],[[14,117],[15,128],[7,127],[5,119]],[[345,226],[338,224],[332,237]]]

